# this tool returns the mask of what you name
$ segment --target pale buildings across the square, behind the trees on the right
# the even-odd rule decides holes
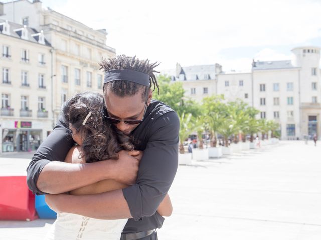
[[[291,60],[253,61],[249,72],[227,73],[215,67],[218,64],[212,65],[209,74],[214,79],[206,84],[191,77],[189,71],[202,66],[183,67],[182,72],[177,66],[165,73],[172,73],[172,80],[182,81],[186,96],[197,101],[223,94],[227,101],[241,99],[254,106],[260,111],[258,118],[279,122],[283,140],[321,136],[320,48],[297,47],[292,53]],[[204,94],[204,87],[215,90]]]

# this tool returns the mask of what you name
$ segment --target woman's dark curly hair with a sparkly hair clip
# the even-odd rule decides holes
[[[76,94],[62,107],[65,122],[84,138],[81,147],[86,162],[118,159],[120,150],[133,150],[129,136],[103,119],[104,109],[103,96],[95,92]]]

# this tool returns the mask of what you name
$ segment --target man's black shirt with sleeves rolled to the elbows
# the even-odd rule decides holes
[[[143,122],[131,135],[135,148],[143,151],[136,184],[123,189],[133,219],[123,233],[160,228],[164,218],[156,210],[174,180],[178,165],[179,119],[164,103],[152,100]],[[36,194],[44,194],[37,186],[43,167],[51,161],[64,161],[74,145],[69,129],[60,119],[54,130],[37,149],[27,168],[27,183]]]

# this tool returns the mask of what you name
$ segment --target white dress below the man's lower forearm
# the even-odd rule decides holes
[[[58,213],[45,240],[119,240],[127,219],[101,220]]]

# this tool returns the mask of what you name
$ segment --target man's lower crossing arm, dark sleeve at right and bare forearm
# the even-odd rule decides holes
[[[71,196],[47,195],[57,212],[69,212],[98,219],[121,219],[153,215],[166,196],[178,165],[179,119],[169,112],[157,119],[157,128],[140,161],[136,184],[111,192]],[[90,163],[92,164],[92,163]],[[95,202],[95,204],[92,204]]]

